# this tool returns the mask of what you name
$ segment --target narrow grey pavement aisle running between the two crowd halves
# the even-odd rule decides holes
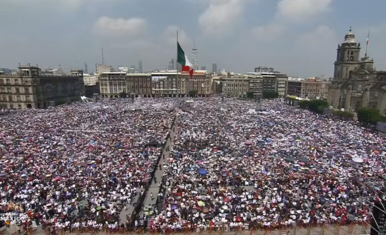
[[[161,155],[161,159],[159,160],[158,165],[159,164],[162,165],[162,162],[167,160],[167,158],[168,158],[168,155],[170,153],[170,149],[173,146],[174,135],[175,135],[175,132],[177,131],[177,122],[178,122],[178,115],[176,115],[174,123],[172,124],[172,126],[170,128],[170,138],[167,139],[165,147],[162,149],[162,154],[165,154],[164,155],[165,157],[163,158]],[[173,128],[174,128],[174,130],[173,130]],[[169,147],[168,151],[166,151],[167,146]],[[156,167],[156,170],[154,172],[154,177],[156,178],[156,182],[154,182],[154,178],[152,178],[149,190],[147,190],[147,194],[146,194],[145,201],[143,203],[143,207],[146,205],[149,205],[149,204],[152,206],[157,206],[157,205],[155,205],[155,202],[157,200],[157,195],[159,192],[159,183],[162,180],[163,170],[164,170],[164,167],[161,167],[161,169],[159,169],[158,166]],[[153,193],[153,199],[151,199],[151,197],[150,197],[151,192]],[[162,203],[162,201],[159,203]],[[140,214],[141,218],[143,217],[144,212],[145,212],[144,208],[142,208],[141,214]]]

